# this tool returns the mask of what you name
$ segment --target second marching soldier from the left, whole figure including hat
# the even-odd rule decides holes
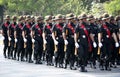
[[[10,53],[9,53],[9,57],[11,57],[12,59],[14,59],[14,45],[15,45],[15,37],[14,37],[14,32],[15,32],[15,28],[17,25],[17,17],[16,16],[12,16],[12,20],[13,22],[10,24],[9,26],[9,40],[10,40]]]

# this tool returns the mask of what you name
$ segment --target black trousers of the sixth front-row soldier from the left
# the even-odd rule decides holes
[[[47,36],[46,37],[46,60],[47,63],[52,63],[52,59],[54,56],[54,41],[52,39],[52,36]]]

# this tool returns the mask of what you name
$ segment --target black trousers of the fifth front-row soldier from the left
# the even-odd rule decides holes
[[[35,43],[34,43],[34,59],[36,61],[41,61],[43,53],[43,38],[42,36],[35,36]]]

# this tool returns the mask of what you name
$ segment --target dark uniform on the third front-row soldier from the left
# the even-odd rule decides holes
[[[25,56],[24,41],[22,36],[23,26],[24,26],[24,23],[19,23],[15,29],[16,38],[17,38],[16,53],[17,53],[18,60],[21,57],[21,61],[24,61],[24,56]],[[16,54],[14,54],[14,57],[16,57]]]

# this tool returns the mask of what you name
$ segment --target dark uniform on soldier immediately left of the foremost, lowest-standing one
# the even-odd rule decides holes
[[[70,64],[70,69],[74,67],[75,62],[75,42],[74,42],[74,28],[75,25],[71,22],[63,27],[63,33],[66,35],[66,40],[68,41],[68,45],[66,46],[65,51],[65,68],[67,68],[67,64]]]

